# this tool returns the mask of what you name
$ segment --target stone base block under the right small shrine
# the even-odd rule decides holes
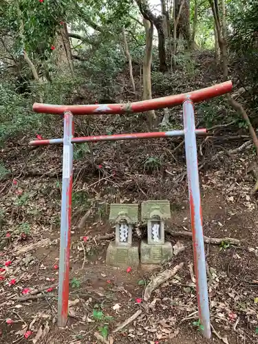
[[[171,242],[165,241],[164,244],[149,245],[142,240],[140,244],[140,260],[142,264],[160,264],[173,257]]]

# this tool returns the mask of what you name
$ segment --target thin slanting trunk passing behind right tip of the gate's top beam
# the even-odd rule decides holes
[[[224,6],[222,1],[222,8]],[[217,38],[218,38],[218,42],[219,42],[219,48],[222,51],[222,67],[223,67],[223,76],[224,76],[224,80],[228,79],[228,52],[226,49],[226,41],[225,41],[225,37],[223,36],[223,32],[226,34],[226,17],[225,17],[225,11],[222,11],[222,24],[221,24],[221,20],[219,18],[219,10],[217,8],[217,1],[215,0],[210,0],[211,3],[211,8],[213,10],[213,17],[215,20],[215,25],[216,25],[216,29],[217,29]],[[222,30],[224,27],[224,30]],[[258,156],[258,138],[257,135],[255,133],[255,129],[253,129],[252,127],[252,123],[250,122],[248,115],[246,114],[246,111],[244,110],[244,107],[242,107],[242,105],[240,103],[238,103],[236,100],[234,100],[230,94],[227,94],[227,99],[228,99],[228,103],[233,107],[233,109],[235,109],[246,121],[246,124],[248,125],[248,130],[250,133],[250,136],[252,138],[253,143],[255,144],[255,149],[256,149],[256,153]]]

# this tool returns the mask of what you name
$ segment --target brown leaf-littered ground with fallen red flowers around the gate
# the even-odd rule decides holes
[[[173,114],[180,117],[180,111]],[[147,131],[144,120],[133,115],[91,120],[94,134]],[[258,343],[257,198],[250,195],[253,180],[246,174],[253,153],[228,155],[228,149],[248,138],[228,140],[225,131],[219,135],[218,140],[198,139],[199,158],[205,162],[200,169],[204,235],[235,238],[240,244],[205,246],[216,332],[212,341]],[[114,233],[108,221],[114,202],[168,199],[171,219],[166,228],[191,231],[184,146],[176,148],[182,139],[104,142],[86,147],[89,152],[84,146],[76,148],[69,318],[63,329],[56,325],[61,147],[28,149],[30,139],[8,142],[1,151],[11,175],[0,182],[0,343],[209,343],[197,325],[191,238],[167,234],[166,239],[173,245],[180,242],[184,251],[166,264],[130,272],[105,265],[111,239],[101,239]],[[212,160],[218,151],[222,153]],[[85,213],[87,221],[79,226]],[[40,246],[30,250],[38,242]],[[177,275],[143,301],[151,277],[180,263],[184,266]],[[114,332],[138,310],[142,312],[136,320]],[[106,334],[103,340],[97,338]]]

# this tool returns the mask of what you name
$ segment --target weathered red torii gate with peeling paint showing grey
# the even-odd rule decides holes
[[[206,263],[204,252],[204,235],[202,230],[202,208],[200,201],[199,174],[197,165],[196,135],[206,133],[206,129],[195,129],[193,103],[221,96],[231,91],[231,81],[198,89],[193,92],[166,96],[151,100],[143,100],[127,104],[105,105],[50,105],[35,103],[33,109],[42,114],[64,114],[63,138],[50,140],[34,140],[31,146],[47,144],[63,144],[63,180],[61,201],[61,237],[59,258],[58,283],[58,325],[67,323],[69,300],[69,251],[72,219],[72,174],[73,174],[73,143],[98,142],[111,140],[133,140],[140,138],[168,138],[184,136],[187,176],[189,184],[189,200],[191,212],[191,227],[193,231],[193,252],[195,262],[196,292],[199,310],[199,319],[204,326],[204,336],[211,338],[211,324],[208,307],[208,290],[206,280]],[[163,107],[173,107],[183,104],[184,130],[129,133],[102,136],[85,136],[74,138],[74,115],[103,115],[103,114],[131,114],[149,111]]]

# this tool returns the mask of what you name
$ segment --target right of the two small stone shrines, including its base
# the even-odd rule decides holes
[[[167,200],[142,202],[142,221],[147,221],[147,242],[140,244],[142,264],[160,264],[173,256],[171,242],[165,241],[164,221],[171,217]]]

